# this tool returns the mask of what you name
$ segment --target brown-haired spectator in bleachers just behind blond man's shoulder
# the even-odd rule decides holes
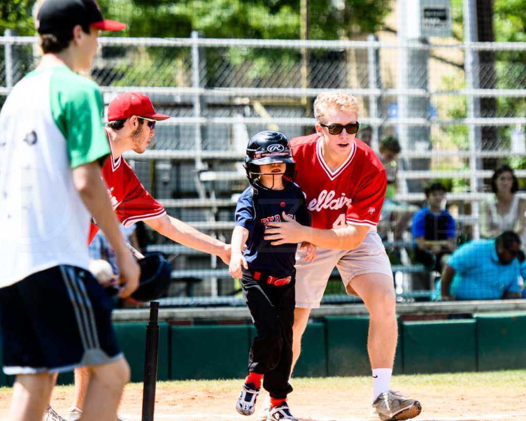
[[[388,230],[392,229],[395,241],[402,239],[403,233],[406,232],[409,226],[412,215],[418,211],[417,206],[396,200],[398,191],[396,178],[398,172],[397,158],[400,151],[400,144],[395,136],[382,137],[380,140],[378,157],[386,169],[387,189],[386,198],[380,214],[380,222],[378,223],[378,230],[380,236],[386,238]]]

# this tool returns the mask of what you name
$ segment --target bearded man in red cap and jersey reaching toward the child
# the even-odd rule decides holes
[[[187,247],[214,254],[228,264],[230,245],[168,215],[164,206],[146,191],[122,156],[130,149],[143,153],[155,135],[156,122],[167,118],[170,116],[156,112],[150,98],[141,92],[120,94],[109,103],[106,135],[111,152],[103,166],[103,177],[117,218],[124,226],[142,220],[159,234]],[[97,232],[98,227],[92,224],[89,242]],[[88,369],[75,370],[75,398],[74,406],[69,409],[69,421],[80,419],[83,413],[89,380]]]

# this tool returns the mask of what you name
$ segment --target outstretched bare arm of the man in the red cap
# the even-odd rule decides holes
[[[144,222],[159,234],[163,234],[179,244],[219,256],[227,265],[230,263],[229,244],[201,233],[179,219],[165,214],[158,218],[146,219]]]

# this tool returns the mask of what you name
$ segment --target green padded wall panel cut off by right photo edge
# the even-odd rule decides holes
[[[479,371],[526,368],[526,313],[479,313],[473,318]]]

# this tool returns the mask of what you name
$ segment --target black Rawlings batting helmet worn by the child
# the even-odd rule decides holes
[[[283,176],[294,181],[296,178],[296,161],[292,158],[287,136],[270,130],[252,136],[248,141],[244,165],[249,183],[254,186],[254,182],[261,175],[260,165],[275,163],[287,164]]]

